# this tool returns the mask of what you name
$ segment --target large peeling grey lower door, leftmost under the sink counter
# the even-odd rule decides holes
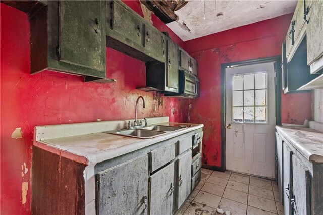
[[[99,214],[148,213],[147,154],[101,171],[96,177]]]

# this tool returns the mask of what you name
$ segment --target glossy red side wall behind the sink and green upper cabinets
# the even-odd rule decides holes
[[[142,15],[139,1],[126,3]],[[158,29],[169,30],[155,16],[152,19]],[[111,84],[84,83],[82,77],[51,71],[31,75],[27,15],[1,4],[0,30],[1,214],[31,213],[34,126],[134,118],[140,95],[146,109],[139,107],[138,117],[170,116],[170,121],[187,121],[187,100],[136,90],[145,86],[142,61],[107,48],[107,76],[117,80]],[[170,35],[182,45],[174,33]],[[22,138],[11,138],[16,128],[21,128]]]

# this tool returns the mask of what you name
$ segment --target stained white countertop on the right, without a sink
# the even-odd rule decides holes
[[[276,126],[276,129],[308,160],[323,163],[322,132],[306,127]]]

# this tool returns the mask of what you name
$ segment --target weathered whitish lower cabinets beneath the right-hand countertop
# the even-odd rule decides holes
[[[295,140],[297,141],[293,139]],[[323,212],[321,186],[323,165],[301,154],[286,134],[279,129],[276,131],[276,149],[277,181],[280,195],[283,197],[284,214],[321,214]],[[282,171],[281,167],[283,167]]]

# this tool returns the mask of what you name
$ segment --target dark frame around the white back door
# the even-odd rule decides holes
[[[275,84],[275,116],[276,125],[281,125],[282,105],[281,105],[281,92],[282,92],[282,69],[281,69],[281,56],[273,56],[267,58],[252,59],[246,61],[238,61],[221,64],[221,167],[215,168],[218,171],[224,172],[226,170],[226,69],[231,66],[246,66],[252,64],[261,64],[267,62],[274,62],[274,78]],[[279,93],[277,93],[279,92]],[[214,168],[213,168],[214,169]]]

